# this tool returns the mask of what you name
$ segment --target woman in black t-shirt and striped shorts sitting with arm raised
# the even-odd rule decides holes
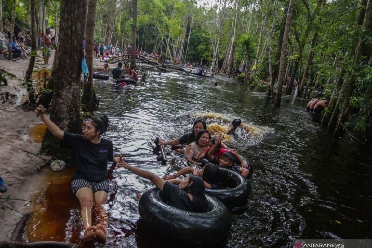
[[[80,202],[81,218],[85,229],[84,239],[88,241],[98,237],[105,241],[108,214],[102,208],[102,204],[106,202],[109,192],[107,160],[119,162],[118,158],[113,157],[112,142],[101,138],[109,125],[108,117],[92,117],[86,123],[81,135],[62,131],[45,115],[46,109],[42,105],[39,105],[35,112],[49,131],[62,140],[61,144],[74,153],[76,171],[71,181],[71,190]],[[94,210],[99,217],[97,225],[92,225],[93,202]]]

